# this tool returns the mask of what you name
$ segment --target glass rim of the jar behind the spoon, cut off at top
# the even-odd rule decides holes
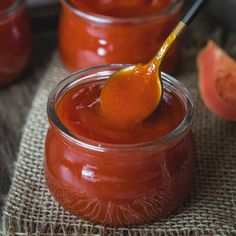
[[[112,17],[107,15],[102,15],[98,13],[88,12],[83,9],[79,9],[75,7],[71,0],[61,0],[62,4],[67,6],[75,15],[80,16],[84,19],[87,19],[89,21],[93,21],[96,23],[102,23],[102,24],[122,24],[122,23],[145,23],[151,20],[154,20],[157,17],[160,17],[164,14],[167,14],[171,12],[172,10],[182,6],[184,0],[172,0],[172,3],[162,9],[161,11],[157,13],[153,13],[150,15],[145,16],[138,16],[138,17],[128,17],[128,18],[122,18],[122,17]]]

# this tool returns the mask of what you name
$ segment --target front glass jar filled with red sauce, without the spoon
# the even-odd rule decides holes
[[[99,114],[104,81],[121,65],[74,73],[51,92],[45,177],[65,209],[110,226],[153,222],[189,193],[195,162],[193,101],[162,74],[164,93],[144,123],[121,129]]]

